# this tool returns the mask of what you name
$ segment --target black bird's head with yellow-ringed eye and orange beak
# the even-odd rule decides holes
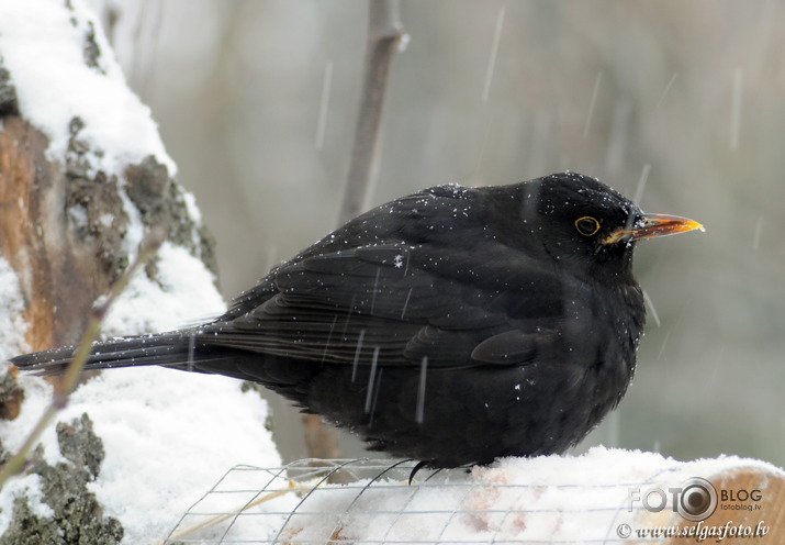
[[[546,176],[520,188],[526,246],[539,246],[537,252],[568,267],[629,274],[636,241],[703,230],[685,218],[643,213],[618,191],[580,174]]]

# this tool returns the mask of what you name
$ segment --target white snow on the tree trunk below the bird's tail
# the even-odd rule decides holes
[[[24,438],[19,430],[34,425],[52,396],[41,378],[23,376],[20,383],[25,390],[22,413],[0,423],[0,440],[12,452]],[[115,369],[78,388],[58,420],[70,422],[82,413],[92,420],[106,453],[89,488],[104,514],[120,520],[123,543],[165,536],[228,468],[280,464],[265,427],[266,402],[253,390],[243,393],[237,380],[162,368]],[[54,426],[42,444],[48,464],[64,460]],[[0,535],[13,497],[40,498],[37,479],[14,479],[0,494]],[[33,504],[46,513],[45,505]]]

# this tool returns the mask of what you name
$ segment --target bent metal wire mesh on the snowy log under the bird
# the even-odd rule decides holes
[[[457,545],[507,545],[507,544],[568,544],[568,543],[620,543],[620,524],[629,523],[636,512],[627,507],[629,487],[661,482],[662,475],[650,476],[647,482],[613,485],[519,485],[504,482],[478,482],[470,479],[468,470],[422,470],[419,479],[408,485],[408,476],[415,463],[383,459],[303,459],[281,467],[235,466],[206,491],[181,516],[177,525],[159,545],[344,545],[344,544],[393,544],[420,545],[450,543]],[[668,472],[668,471],[665,471]],[[658,479],[658,480],[652,480]],[[348,482],[334,485],[330,482]],[[526,494],[558,489],[562,492],[605,492],[610,498],[598,505],[560,505],[558,509],[532,504],[526,508],[502,508],[491,501],[486,507],[467,501],[482,491],[493,499],[500,492],[517,492],[506,503],[515,505]],[[596,493],[595,493],[596,492]],[[444,508],[433,509],[430,500],[453,494],[453,500]],[[397,496],[397,501],[389,501]],[[386,500],[386,501],[385,501]],[[389,507],[393,504],[394,508]],[[438,504],[438,502],[436,502]],[[423,508],[419,504],[425,504]],[[604,535],[585,538],[525,538],[516,536],[525,530],[526,518],[540,516],[553,521],[553,527],[571,518],[585,520],[599,516],[607,521]],[[492,521],[484,532],[470,533],[464,527],[471,521]],[[412,535],[422,521],[430,529]],[[354,530],[346,531],[350,526]],[[493,527],[491,527],[493,526]],[[357,530],[366,529],[367,532]],[[511,531],[512,527],[512,531]],[[404,529],[404,532],[401,530]],[[520,532],[518,532],[520,533]],[[558,533],[558,532],[554,532]],[[476,535],[482,534],[482,538]],[[596,534],[596,532],[594,533]],[[574,535],[574,533],[572,534]],[[580,535],[580,531],[579,531]],[[664,537],[640,540],[664,543]]]

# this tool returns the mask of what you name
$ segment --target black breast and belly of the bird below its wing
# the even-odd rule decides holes
[[[616,407],[632,377],[642,310],[616,305],[626,310],[608,321],[614,305],[602,297],[585,314],[573,308],[580,320],[565,313],[536,363],[427,368],[425,378],[419,366],[324,365],[309,382],[307,408],[373,449],[431,467],[562,453]]]

